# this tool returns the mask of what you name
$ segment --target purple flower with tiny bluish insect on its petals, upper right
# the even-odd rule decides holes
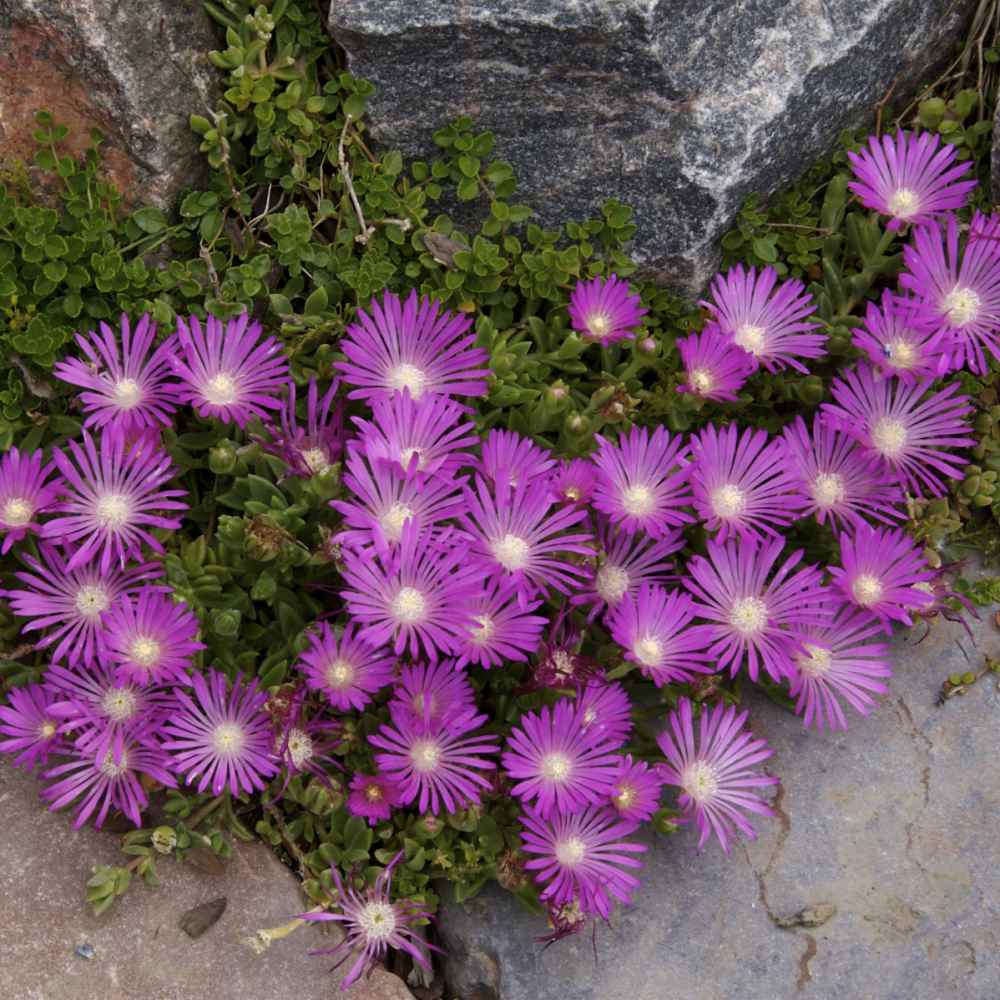
[[[933,308],[889,289],[881,304],[868,303],[864,326],[855,328],[852,339],[879,371],[904,382],[936,377],[949,368],[950,340]]]

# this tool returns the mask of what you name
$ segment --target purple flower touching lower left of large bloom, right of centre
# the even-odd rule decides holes
[[[694,616],[694,601],[688,594],[646,583],[638,595],[625,595],[607,625],[625,658],[662,687],[688,683],[696,673],[715,669],[708,654],[715,635],[706,626],[692,625]]]

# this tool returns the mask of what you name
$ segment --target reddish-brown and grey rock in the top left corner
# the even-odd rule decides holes
[[[169,207],[204,169],[188,116],[215,105],[214,47],[200,3],[0,0],[0,162],[30,162],[45,109],[74,153],[99,129],[119,188]]]

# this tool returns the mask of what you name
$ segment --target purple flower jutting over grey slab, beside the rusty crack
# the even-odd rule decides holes
[[[660,774],[668,785],[681,789],[680,806],[698,826],[698,846],[714,833],[728,854],[730,841],[739,830],[750,840],[756,838],[742,810],[758,816],[773,816],[771,809],[750,789],[777,785],[778,779],[756,773],[754,766],[774,751],[766,740],[754,739],[743,729],[747,712],[738,715],[733,706],[703,708],[695,739],[691,702],[681,698],[671,712],[656,742],[667,763]]]

